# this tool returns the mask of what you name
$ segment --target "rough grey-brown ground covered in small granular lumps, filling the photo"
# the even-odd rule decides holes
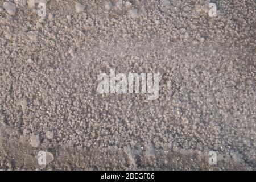
[[[255,170],[255,1],[4,2],[0,169]],[[111,68],[159,73],[159,98],[97,93]]]

